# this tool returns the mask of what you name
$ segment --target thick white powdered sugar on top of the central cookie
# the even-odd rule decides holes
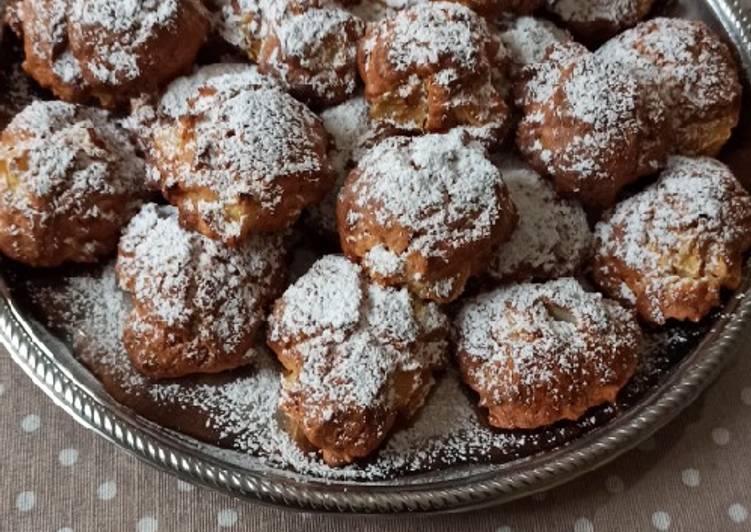
[[[402,227],[413,236],[399,253],[445,257],[491,237],[502,212],[505,185],[498,169],[475,142],[459,133],[388,138],[361,159],[348,193],[356,209],[347,223],[372,216],[383,227]]]

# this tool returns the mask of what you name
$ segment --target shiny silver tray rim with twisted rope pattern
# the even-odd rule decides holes
[[[742,0],[707,0],[741,52],[751,78],[751,19]],[[615,459],[675,418],[732,360],[736,341],[751,322],[751,290],[742,293],[732,315],[721,319],[697,351],[659,392],[631,415],[616,419],[551,455],[533,457],[466,481],[414,486],[348,485],[339,491],[326,482],[300,485],[267,471],[249,471],[181,449],[178,440],[111,410],[82,379],[58,365],[14,306],[0,278],[0,343],[13,361],[52,401],[84,427],[138,459],[178,477],[244,499],[305,511],[359,514],[467,511],[550,489]],[[711,340],[711,342],[709,342]],[[634,410],[637,410],[636,408]]]

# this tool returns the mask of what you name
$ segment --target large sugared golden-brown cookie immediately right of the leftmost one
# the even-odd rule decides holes
[[[238,245],[251,232],[292,225],[334,174],[326,131],[302,103],[274,88],[216,96],[158,124],[150,156],[183,225]]]

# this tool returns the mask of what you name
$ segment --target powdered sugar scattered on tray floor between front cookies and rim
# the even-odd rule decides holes
[[[135,372],[120,341],[131,306],[117,287],[113,265],[101,271],[77,271],[64,279],[59,274],[46,281],[16,279],[11,286],[26,292],[18,295],[31,300],[35,315],[65,339],[118,401],[141,415],[210,444],[257,457],[252,460],[270,467],[342,480],[383,480],[453,465],[507,462],[558,447],[634,404],[708,329],[678,326],[650,334],[642,370],[624,389],[618,406],[593,410],[576,424],[540,431],[490,429],[473,406],[476,399],[449,369],[439,377],[411,426],[395,432],[371,459],[334,469],[316,454],[300,449],[285,431],[277,411],[280,369],[266,349],[259,349],[251,369],[156,383]],[[191,420],[193,430],[175,421],[180,416]]]

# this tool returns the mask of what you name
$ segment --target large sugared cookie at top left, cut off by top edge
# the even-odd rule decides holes
[[[199,0],[21,0],[24,69],[58,98],[115,107],[190,69],[209,32]]]

